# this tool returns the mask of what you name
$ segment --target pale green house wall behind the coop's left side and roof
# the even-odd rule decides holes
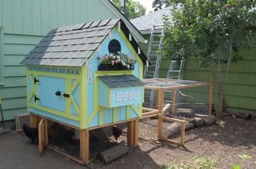
[[[0,86],[0,96],[4,119],[27,112],[26,69],[19,62],[46,33],[59,26],[109,18],[117,17],[100,0],[0,0],[0,27],[3,27],[0,79],[2,75],[4,83]]]

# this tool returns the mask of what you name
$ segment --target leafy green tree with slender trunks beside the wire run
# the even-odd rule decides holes
[[[250,49],[255,31],[255,0],[169,0],[172,20],[164,17],[163,53],[172,60],[203,59],[210,67],[215,109],[220,117],[230,62],[241,60],[240,48]]]

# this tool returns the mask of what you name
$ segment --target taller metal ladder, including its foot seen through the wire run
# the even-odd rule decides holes
[[[164,29],[161,29],[161,33],[156,32],[156,27],[160,26],[163,27],[163,24],[155,25],[153,23],[152,25],[149,50],[147,51],[147,59],[149,59],[151,65],[145,67],[144,79],[158,78],[164,38]],[[145,103],[148,104],[150,108],[153,108],[153,106],[156,105],[156,90],[145,91],[144,97]]]

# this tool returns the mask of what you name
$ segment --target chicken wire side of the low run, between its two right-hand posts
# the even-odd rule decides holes
[[[164,90],[163,98],[166,117],[191,121],[195,117],[207,117],[209,114],[208,86]]]

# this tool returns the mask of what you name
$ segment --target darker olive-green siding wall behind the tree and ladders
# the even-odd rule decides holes
[[[150,39],[149,34],[144,35]],[[147,53],[149,44],[140,44],[142,50]],[[233,111],[255,112],[256,110],[256,46],[251,50],[240,50],[239,55],[243,60],[237,64],[232,63],[225,88],[224,99],[228,107]],[[203,79],[200,78],[197,71],[191,66],[195,65],[196,60],[186,60],[183,73],[184,80],[213,81],[212,74],[208,68],[200,68]],[[163,58],[161,60],[159,78],[166,78],[171,60]],[[200,60],[199,60],[200,63]],[[223,70],[225,71],[225,70]]]

